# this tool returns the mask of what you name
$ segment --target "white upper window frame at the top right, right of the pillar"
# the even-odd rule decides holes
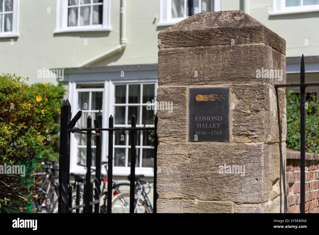
[[[303,6],[303,0],[300,0],[300,6],[286,7],[286,0],[273,0],[272,11],[270,15],[282,15],[302,12],[319,11],[319,4]]]

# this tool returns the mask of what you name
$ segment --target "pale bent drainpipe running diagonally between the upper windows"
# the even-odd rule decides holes
[[[117,45],[114,49],[109,50],[108,52],[104,53],[103,55],[95,57],[94,59],[87,61],[84,64],[80,64],[78,67],[92,65],[92,64],[94,64],[102,59],[105,59],[105,58],[112,56],[116,53],[120,53],[126,48],[126,44],[127,44],[127,39],[126,39],[126,0],[121,0],[121,10],[122,9],[123,9],[123,12],[120,13],[120,15],[121,15],[120,45]]]

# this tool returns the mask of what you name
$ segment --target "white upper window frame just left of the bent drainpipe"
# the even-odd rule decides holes
[[[56,29],[54,33],[110,30],[110,0],[103,0],[102,24],[72,27],[68,27],[68,0],[56,1]]]

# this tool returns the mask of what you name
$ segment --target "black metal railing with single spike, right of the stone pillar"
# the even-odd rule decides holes
[[[306,112],[305,94],[306,87],[319,86],[319,83],[305,83],[305,59],[302,54],[300,64],[300,83],[299,84],[277,84],[274,85],[278,94],[279,87],[300,87],[300,213],[305,213],[305,155],[306,155]],[[279,113],[278,113],[279,115]]]

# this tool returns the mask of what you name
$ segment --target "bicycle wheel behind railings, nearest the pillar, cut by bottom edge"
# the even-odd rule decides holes
[[[112,213],[130,213],[130,194],[118,194],[112,202]],[[137,203],[136,213],[150,213],[147,205],[141,199]]]

